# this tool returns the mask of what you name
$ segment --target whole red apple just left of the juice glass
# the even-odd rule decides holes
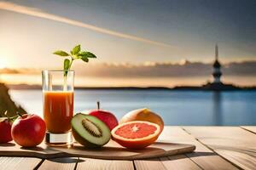
[[[24,147],[33,147],[41,144],[45,131],[44,120],[40,116],[28,114],[19,116],[11,129],[15,142]]]

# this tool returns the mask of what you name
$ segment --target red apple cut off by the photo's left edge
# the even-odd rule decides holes
[[[11,136],[12,122],[8,117],[0,118],[0,144],[8,143],[12,141]]]

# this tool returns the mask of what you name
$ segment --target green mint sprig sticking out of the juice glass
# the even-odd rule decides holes
[[[67,52],[63,51],[63,50],[56,50],[53,54],[55,55],[59,55],[61,57],[65,57],[66,59],[64,59],[64,64],[63,64],[63,68],[64,68],[64,77],[67,77],[67,71],[70,70],[72,64],[73,64],[73,60],[75,59],[81,59],[84,62],[88,63],[89,59],[92,58],[96,58],[95,54],[90,53],[89,51],[82,51],[81,50],[81,45],[76,45],[71,51],[70,54],[68,54]],[[67,59],[67,57],[69,59]]]

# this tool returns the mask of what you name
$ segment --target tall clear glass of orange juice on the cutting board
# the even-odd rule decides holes
[[[42,71],[45,143],[73,144],[71,119],[73,117],[74,71]]]

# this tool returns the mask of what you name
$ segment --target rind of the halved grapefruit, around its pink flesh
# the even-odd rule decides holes
[[[136,123],[145,123],[145,124],[154,126],[156,129],[155,129],[154,133],[149,134],[146,137],[137,138],[137,139],[127,139],[127,138],[121,137],[115,133],[120,127],[129,125],[129,124],[136,124]],[[114,127],[113,130],[111,131],[113,139],[120,145],[122,145],[126,148],[129,148],[129,149],[142,149],[150,144],[153,144],[154,141],[156,139],[158,139],[160,133],[161,133],[160,126],[158,124],[153,123],[153,122],[146,122],[146,121],[125,122],[123,124],[120,124],[117,127]]]

